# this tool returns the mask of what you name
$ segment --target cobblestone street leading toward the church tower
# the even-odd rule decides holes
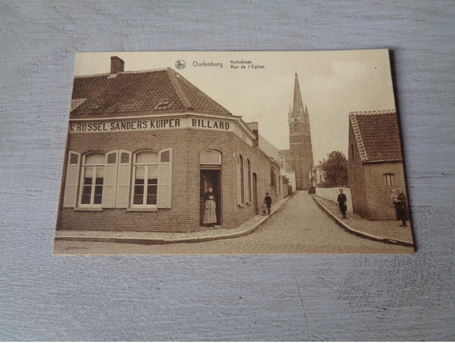
[[[249,235],[199,243],[139,245],[56,241],[57,254],[408,254],[412,247],[344,231],[311,195],[299,191]]]

